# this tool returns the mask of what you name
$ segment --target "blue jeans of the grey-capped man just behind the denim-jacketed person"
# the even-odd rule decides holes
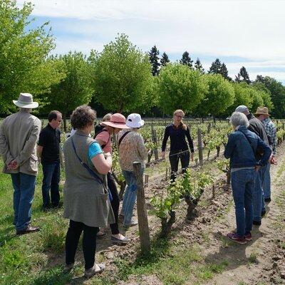
[[[266,166],[260,168],[254,183],[254,221],[257,222],[261,221],[261,211],[265,211],[264,195],[262,190],[265,171]]]

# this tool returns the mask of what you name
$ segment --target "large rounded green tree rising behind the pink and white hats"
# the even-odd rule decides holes
[[[152,74],[147,54],[142,53],[125,34],[104,46],[95,60],[95,98],[105,109],[115,112],[138,110],[151,93]],[[152,107],[152,101],[147,108]]]

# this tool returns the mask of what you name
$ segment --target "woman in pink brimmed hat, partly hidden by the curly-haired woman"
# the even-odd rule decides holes
[[[103,125],[104,128],[100,130],[100,133],[96,135],[95,140],[102,147],[103,152],[112,153],[111,135],[119,133],[119,131],[122,129],[128,129],[128,126],[125,125],[125,116],[123,116],[120,113],[115,113],[113,115],[110,115],[110,120],[103,121],[101,125]],[[129,242],[129,239],[128,237],[124,237],[123,234],[120,234],[118,227],[118,213],[119,213],[120,199],[118,196],[118,190],[115,184],[115,179],[111,172],[108,172],[107,180],[108,180],[108,188],[110,190],[110,194],[112,195],[111,206],[115,216],[115,223],[110,224],[110,229],[112,232],[111,240],[112,242],[117,244],[126,244],[127,242]],[[98,237],[102,237],[104,235],[105,233],[102,231],[98,233]]]

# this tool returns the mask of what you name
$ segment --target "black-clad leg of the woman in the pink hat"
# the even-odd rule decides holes
[[[111,201],[111,206],[115,216],[115,223],[110,224],[110,229],[112,234],[119,234],[120,231],[118,226],[118,215],[119,215],[120,199],[118,195],[117,186],[115,184],[115,179],[110,172],[108,172],[107,179],[108,179],[108,187],[113,197]]]

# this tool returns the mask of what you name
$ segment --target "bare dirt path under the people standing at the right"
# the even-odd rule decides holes
[[[212,226],[205,261],[227,261],[228,266],[207,284],[285,284],[285,147],[279,148],[279,165],[271,169],[272,201],[260,227],[254,226],[253,241],[232,244],[224,235],[235,228],[234,207],[222,222]]]

